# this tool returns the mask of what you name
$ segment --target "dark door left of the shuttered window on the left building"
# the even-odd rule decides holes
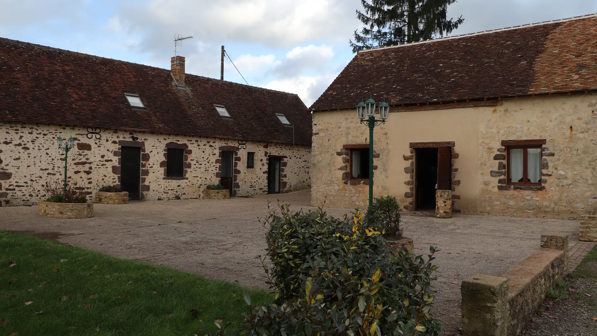
[[[141,199],[141,148],[122,147],[120,158],[120,185],[122,191],[128,191],[128,199]]]

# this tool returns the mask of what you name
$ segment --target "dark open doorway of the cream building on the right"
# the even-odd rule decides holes
[[[438,181],[438,148],[417,148],[415,155],[417,210],[435,209],[435,191]]]

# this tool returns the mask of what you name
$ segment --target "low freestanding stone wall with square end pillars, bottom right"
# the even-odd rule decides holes
[[[501,277],[476,274],[461,284],[463,336],[516,336],[568,269],[568,234],[541,236],[541,249]]]

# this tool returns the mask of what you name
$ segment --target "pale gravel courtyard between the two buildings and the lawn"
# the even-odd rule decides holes
[[[171,200],[124,205],[94,204],[94,218],[53,219],[37,207],[0,207],[0,228],[36,234],[119,258],[149,262],[207,279],[266,289],[258,255],[264,254],[264,228],[257,218],[267,200],[310,207],[310,192],[230,200]],[[341,216],[351,209],[329,209]],[[434,315],[444,334],[460,327],[460,282],[476,273],[499,276],[539,248],[541,233],[570,233],[578,241],[578,222],[559,219],[455,215],[451,219],[403,216],[405,236],[417,253],[436,246],[439,267]]]

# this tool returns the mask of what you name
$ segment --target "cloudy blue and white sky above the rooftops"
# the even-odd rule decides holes
[[[175,33],[186,71],[220,77],[225,45],[248,84],[309,106],[354,54],[359,0],[0,0],[0,36],[170,68]],[[595,0],[458,0],[452,35],[597,13]],[[226,59],[224,79],[244,83]]]

